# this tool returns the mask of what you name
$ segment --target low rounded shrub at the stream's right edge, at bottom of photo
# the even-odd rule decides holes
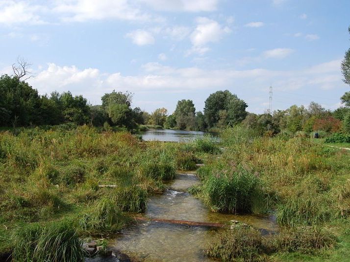
[[[266,250],[261,233],[252,227],[237,226],[215,234],[207,245],[204,254],[231,261],[265,261],[261,256]]]

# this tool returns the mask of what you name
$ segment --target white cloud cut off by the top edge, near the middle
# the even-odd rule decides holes
[[[139,0],[160,11],[210,12],[217,9],[219,0]]]

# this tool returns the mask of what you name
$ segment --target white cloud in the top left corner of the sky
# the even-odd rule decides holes
[[[0,24],[43,24],[38,13],[45,10],[45,7],[27,1],[3,0],[0,1]]]

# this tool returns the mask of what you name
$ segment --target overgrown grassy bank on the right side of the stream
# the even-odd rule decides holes
[[[205,157],[198,170],[202,183],[191,192],[215,212],[275,214],[280,234],[268,243],[249,230],[218,234],[208,255],[223,261],[346,261],[350,152],[307,138],[259,137],[240,127],[221,139],[225,150]],[[242,250],[235,250],[240,242]]]

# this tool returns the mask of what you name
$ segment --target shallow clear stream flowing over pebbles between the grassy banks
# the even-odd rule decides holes
[[[251,215],[225,215],[211,212],[201,200],[186,190],[199,183],[193,174],[179,174],[168,184],[161,195],[151,196],[148,201],[148,218],[179,219],[197,222],[228,223],[231,219],[247,223],[259,229],[275,231],[273,217]],[[213,231],[201,226],[187,226],[154,221],[139,222],[125,229],[110,241],[110,248],[120,250],[131,258],[142,262],[211,262],[203,249],[213,237]],[[89,259],[89,261],[118,261],[116,258]]]

